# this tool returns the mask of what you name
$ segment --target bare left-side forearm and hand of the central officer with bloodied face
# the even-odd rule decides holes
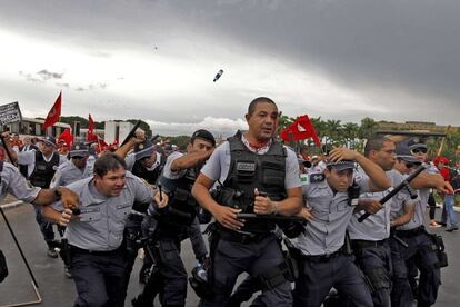
[[[237,214],[241,212],[240,209],[233,209],[222,206],[212,199],[209,189],[214,184],[214,180],[208,178],[202,172],[198,176],[192,188],[192,195],[197,199],[201,207],[207,209],[216,218],[216,220],[232,230],[238,230],[243,227],[243,222],[237,219]]]

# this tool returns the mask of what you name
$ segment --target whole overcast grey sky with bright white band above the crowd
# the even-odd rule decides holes
[[[0,105],[140,118],[154,133],[288,116],[460,126],[460,1],[0,0]],[[224,72],[212,82],[219,69]]]

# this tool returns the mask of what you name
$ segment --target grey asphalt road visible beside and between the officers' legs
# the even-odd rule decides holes
[[[22,205],[8,209],[6,212],[39,284],[39,291],[42,297],[40,306],[72,306],[76,297],[73,283],[64,277],[62,261],[51,259],[46,255],[47,247],[34,221],[32,206]],[[460,280],[460,231],[449,234],[443,231],[442,228],[434,231],[442,234],[450,263],[450,266],[442,270],[442,285],[434,306],[460,306],[458,287]],[[31,279],[2,218],[0,218],[0,248],[7,256],[10,270],[10,275],[0,284],[0,306],[36,300]],[[189,241],[184,241],[182,245],[182,256],[186,267],[190,271],[194,266],[194,257]],[[130,299],[141,290],[137,281],[139,264],[138,259],[126,306],[131,306]],[[197,296],[189,287],[187,306],[197,306]]]

